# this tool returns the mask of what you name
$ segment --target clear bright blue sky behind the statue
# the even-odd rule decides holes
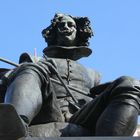
[[[140,79],[140,0],[1,0],[0,57],[18,63],[21,53],[33,55],[34,48],[41,56],[47,45],[41,31],[57,12],[91,20],[93,54],[80,62],[99,71],[101,82],[122,75]]]

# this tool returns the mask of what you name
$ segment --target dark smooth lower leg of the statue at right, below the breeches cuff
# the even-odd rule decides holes
[[[137,126],[138,110],[130,104],[112,102],[96,124],[97,136],[133,136]]]

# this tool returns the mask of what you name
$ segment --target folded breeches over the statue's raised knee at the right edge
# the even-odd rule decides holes
[[[140,81],[130,76],[121,76],[114,81],[111,92],[111,101],[126,103],[139,110]]]

